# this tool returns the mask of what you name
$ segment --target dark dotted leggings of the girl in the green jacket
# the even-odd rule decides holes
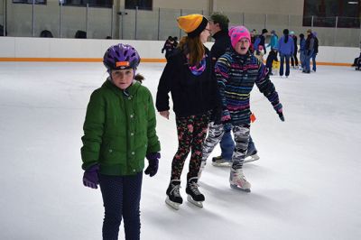
[[[132,176],[108,176],[99,174],[99,185],[103,196],[105,217],[103,239],[118,239],[119,226],[124,218],[125,239],[140,239],[141,200],[143,172]]]

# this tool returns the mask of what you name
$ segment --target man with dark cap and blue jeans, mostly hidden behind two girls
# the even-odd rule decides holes
[[[216,61],[220,56],[222,56],[228,48],[231,47],[231,41],[228,35],[228,23],[229,19],[227,15],[220,14],[220,13],[213,13],[209,17],[209,29],[210,33],[212,34],[212,37],[215,39],[215,43],[213,44],[210,54],[212,57],[213,66],[216,64]],[[217,113],[215,113],[217,115]],[[215,122],[219,122],[219,117],[213,117],[212,120]],[[232,164],[232,154],[235,149],[235,142],[232,139],[230,131],[227,131],[220,142],[220,148],[222,150],[221,155],[218,157],[214,157],[212,159],[212,164],[215,166],[223,166]],[[256,155],[256,149],[255,149],[255,143],[252,141],[252,138],[250,137],[249,143],[248,143],[248,154],[247,156],[251,154]],[[205,164],[202,162],[202,164]],[[204,166],[204,165],[203,165]]]

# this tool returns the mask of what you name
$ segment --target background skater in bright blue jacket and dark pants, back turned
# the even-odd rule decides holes
[[[280,76],[283,76],[283,63],[286,60],[286,78],[290,75],[290,58],[294,52],[294,43],[292,37],[289,35],[288,29],[283,30],[283,36],[278,42],[280,58],[281,58],[281,66],[280,66]]]

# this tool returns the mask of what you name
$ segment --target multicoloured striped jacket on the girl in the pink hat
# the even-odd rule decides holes
[[[273,106],[280,100],[264,63],[251,53],[240,55],[233,49],[223,54],[215,67],[223,110],[228,110],[232,125],[250,124],[249,97],[256,85]]]

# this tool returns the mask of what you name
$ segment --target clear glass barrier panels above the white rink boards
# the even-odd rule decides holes
[[[134,10],[119,11],[114,6],[9,5],[6,2],[0,0],[0,25],[7,36],[14,37],[39,37],[43,30],[48,30],[56,38],[74,38],[80,30],[87,32],[88,39],[165,40],[168,36],[180,38],[183,34],[176,23],[178,16],[209,15],[208,11],[190,9],[139,10],[136,7]],[[319,45],[323,46],[358,47],[361,42],[359,18],[236,12],[224,14],[229,17],[230,25],[243,24],[258,32],[264,28],[269,32],[275,30],[279,36],[285,28],[297,35],[312,28],[312,31],[318,32]]]

